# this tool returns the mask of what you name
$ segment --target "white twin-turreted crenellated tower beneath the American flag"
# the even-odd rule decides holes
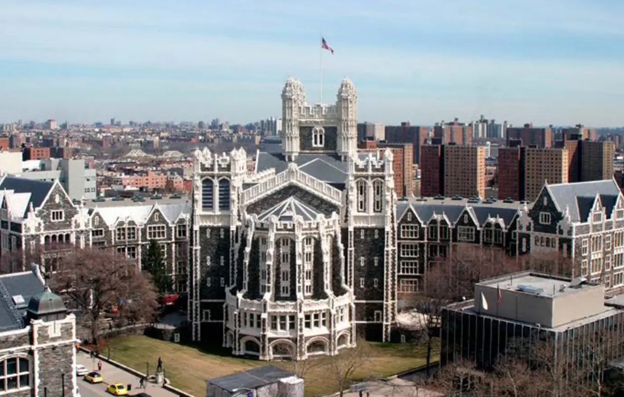
[[[306,103],[303,85],[286,80],[282,100],[282,153],[294,161],[300,153],[337,154],[343,161],[358,145],[358,96],[353,82],[344,79],[334,105]]]

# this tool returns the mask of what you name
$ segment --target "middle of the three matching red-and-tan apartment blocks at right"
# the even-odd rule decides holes
[[[568,150],[499,149],[499,198],[534,201],[545,182],[568,183]]]

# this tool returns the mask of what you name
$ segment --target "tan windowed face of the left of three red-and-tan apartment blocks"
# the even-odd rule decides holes
[[[444,196],[485,198],[485,148],[444,145]]]

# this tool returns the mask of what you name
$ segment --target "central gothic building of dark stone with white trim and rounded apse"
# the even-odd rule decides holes
[[[195,152],[189,320],[261,360],[390,340],[396,316],[392,155],[358,154],[356,91],[306,103],[288,79],[280,153]]]

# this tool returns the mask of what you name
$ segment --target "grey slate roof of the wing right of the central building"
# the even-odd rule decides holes
[[[397,218],[401,219],[407,209],[411,208],[422,222],[429,222],[434,214],[444,214],[449,221],[455,223],[459,216],[468,209],[470,216],[476,219],[480,226],[485,224],[487,218],[499,216],[507,227],[522,205],[519,201],[505,203],[502,200],[497,200],[494,203],[487,203],[487,201],[469,203],[469,199],[409,198],[397,201],[396,215]]]

